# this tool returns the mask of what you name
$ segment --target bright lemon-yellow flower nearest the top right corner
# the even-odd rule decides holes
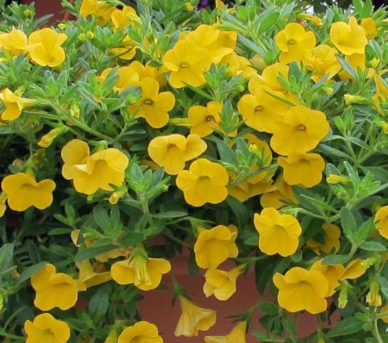
[[[357,19],[354,16],[349,18],[349,24],[343,21],[332,24],[330,39],[337,49],[345,55],[364,54],[365,46],[368,43],[364,29],[357,24]]]

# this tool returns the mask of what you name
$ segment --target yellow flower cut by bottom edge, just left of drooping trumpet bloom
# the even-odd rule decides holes
[[[155,324],[141,321],[123,329],[117,343],[163,343],[163,338]]]

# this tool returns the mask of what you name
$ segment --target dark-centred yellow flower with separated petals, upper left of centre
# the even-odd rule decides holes
[[[138,82],[141,87],[141,99],[129,106],[136,116],[146,119],[147,123],[155,129],[165,126],[168,123],[168,111],[175,105],[175,97],[170,91],[159,93],[159,83],[155,79],[146,77]]]

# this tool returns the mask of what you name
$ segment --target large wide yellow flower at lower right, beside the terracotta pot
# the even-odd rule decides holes
[[[284,276],[276,273],[273,282],[279,289],[277,302],[288,312],[317,314],[327,309],[329,282],[321,272],[293,267]]]

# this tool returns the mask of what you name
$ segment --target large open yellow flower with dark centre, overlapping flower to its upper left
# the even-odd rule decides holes
[[[303,154],[314,149],[329,129],[323,112],[297,105],[286,112],[283,121],[273,123],[270,145],[277,154]]]

